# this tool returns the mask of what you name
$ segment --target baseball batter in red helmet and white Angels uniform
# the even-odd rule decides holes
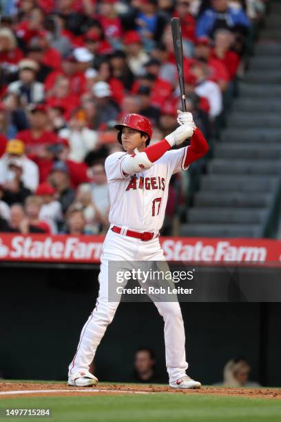
[[[189,164],[208,150],[207,141],[192,114],[178,110],[179,126],[165,139],[149,145],[152,125],[140,114],[127,114],[118,130],[124,152],[114,152],[105,161],[110,191],[110,229],[103,243],[99,294],[96,307],[81,332],[79,345],[70,363],[68,385],[96,385],[89,372],[107,325],[112,322],[119,302],[108,300],[110,261],[165,261],[159,243],[172,174],[187,170]],[[172,150],[185,139],[189,146]],[[154,302],[164,319],[165,356],[172,388],[200,388],[187,374],[185,329],[178,301]]]

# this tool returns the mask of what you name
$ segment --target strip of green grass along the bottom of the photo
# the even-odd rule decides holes
[[[43,420],[59,422],[281,421],[279,400],[205,394],[20,397],[1,399],[0,408],[50,408],[52,417]],[[25,417],[24,420],[34,418]]]

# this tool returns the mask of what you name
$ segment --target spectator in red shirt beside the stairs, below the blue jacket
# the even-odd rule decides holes
[[[230,50],[232,43],[233,34],[230,31],[218,30],[215,34],[215,46],[211,52],[211,57],[220,61],[227,68],[231,81],[236,77],[240,62],[238,54]]]

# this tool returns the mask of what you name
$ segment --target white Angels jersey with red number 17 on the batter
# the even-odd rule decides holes
[[[124,175],[126,152],[114,152],[105,160],[110,191],[110,223],[141,232],[160,230],[165,217],[172,174],[187,170],[187,148],[171,150],[143,172]]]

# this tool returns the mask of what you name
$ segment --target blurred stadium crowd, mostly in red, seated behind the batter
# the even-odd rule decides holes
[[[96,234],[109,225],[104,161],[121,150],[116,122],[145,115],[152,142],[176,127],[171,17],[182,21],[187,110],[211,142],[266,0],[0,5],[0,231]],[[169,223],[185,177],[170,185]]]

